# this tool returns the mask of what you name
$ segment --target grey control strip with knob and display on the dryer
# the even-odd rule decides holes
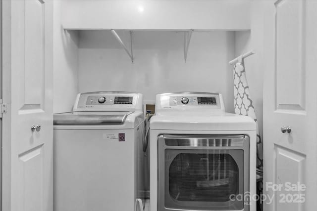
[[[207,96],[171,96],[169,98],[169,105],[217,105],[216,97]]]

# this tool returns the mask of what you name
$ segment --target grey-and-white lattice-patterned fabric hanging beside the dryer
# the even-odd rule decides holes
[[[247,82],[246,71],[244,69],[243,59],[240,57],[239,62],[233,67],[233,84],[234,84],[234,111],[236,114],[250,116],[257,123],[257,178],[263,176],[263,145],[260,135],[258,121],[254,110],[253,101],[250,97],[249,85]],[[263,180],[257,182],[257,194],[263,193]],[[262,211],[263,206],[260,201],[257,202],[257,210]]]

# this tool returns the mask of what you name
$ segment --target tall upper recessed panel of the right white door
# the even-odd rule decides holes
[[[275,112],[306,114],[304,20],[305,0],[275,2]]]

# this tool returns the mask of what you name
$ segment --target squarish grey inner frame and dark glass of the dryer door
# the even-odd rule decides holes
[[[179,153],[167,149],[165,168],[166,208],[243,209],[243,200],[236,201],[238,194],[243,195],[243,150]]]

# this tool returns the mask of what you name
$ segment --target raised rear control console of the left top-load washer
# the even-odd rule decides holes
[[[77,95],[73,111],[143,111],[143,96],[132,92],[86,92]]]

